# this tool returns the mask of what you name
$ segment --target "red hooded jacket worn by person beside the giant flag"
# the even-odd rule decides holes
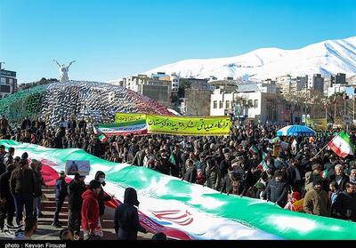
[[[91,189],[87,189],[83,195],[82,204],[82,228],[84,230],[94,230],[98,227],[99,204],[98,196]]]

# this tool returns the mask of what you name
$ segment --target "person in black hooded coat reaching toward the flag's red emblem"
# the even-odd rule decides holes
[[[137,232],[147,233],[139,221],[139,213],[135,206],[139,206],[137,193],[134,188],[126,188],[124,204],[117,206],[115,211],[114,228],[119,240],[136,240]]]

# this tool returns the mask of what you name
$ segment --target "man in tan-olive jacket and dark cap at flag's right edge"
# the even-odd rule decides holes
[[[328,217],[330,216],[331,204],[328,193],[322,189],[323,181],[320,178],[314,178],[313,188],[309,190],[303,201],[303,210],[306,213]]]

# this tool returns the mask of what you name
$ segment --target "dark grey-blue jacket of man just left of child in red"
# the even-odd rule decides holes
[[[285,181],[270,180],[266,188],[267,200],[283,207],[287,204],[288,184]]]

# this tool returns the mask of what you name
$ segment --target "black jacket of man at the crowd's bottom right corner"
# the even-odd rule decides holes
[[[356,195],[350,196],[345,191],[336,197],[334,204],[336,218],[356,221]]]

